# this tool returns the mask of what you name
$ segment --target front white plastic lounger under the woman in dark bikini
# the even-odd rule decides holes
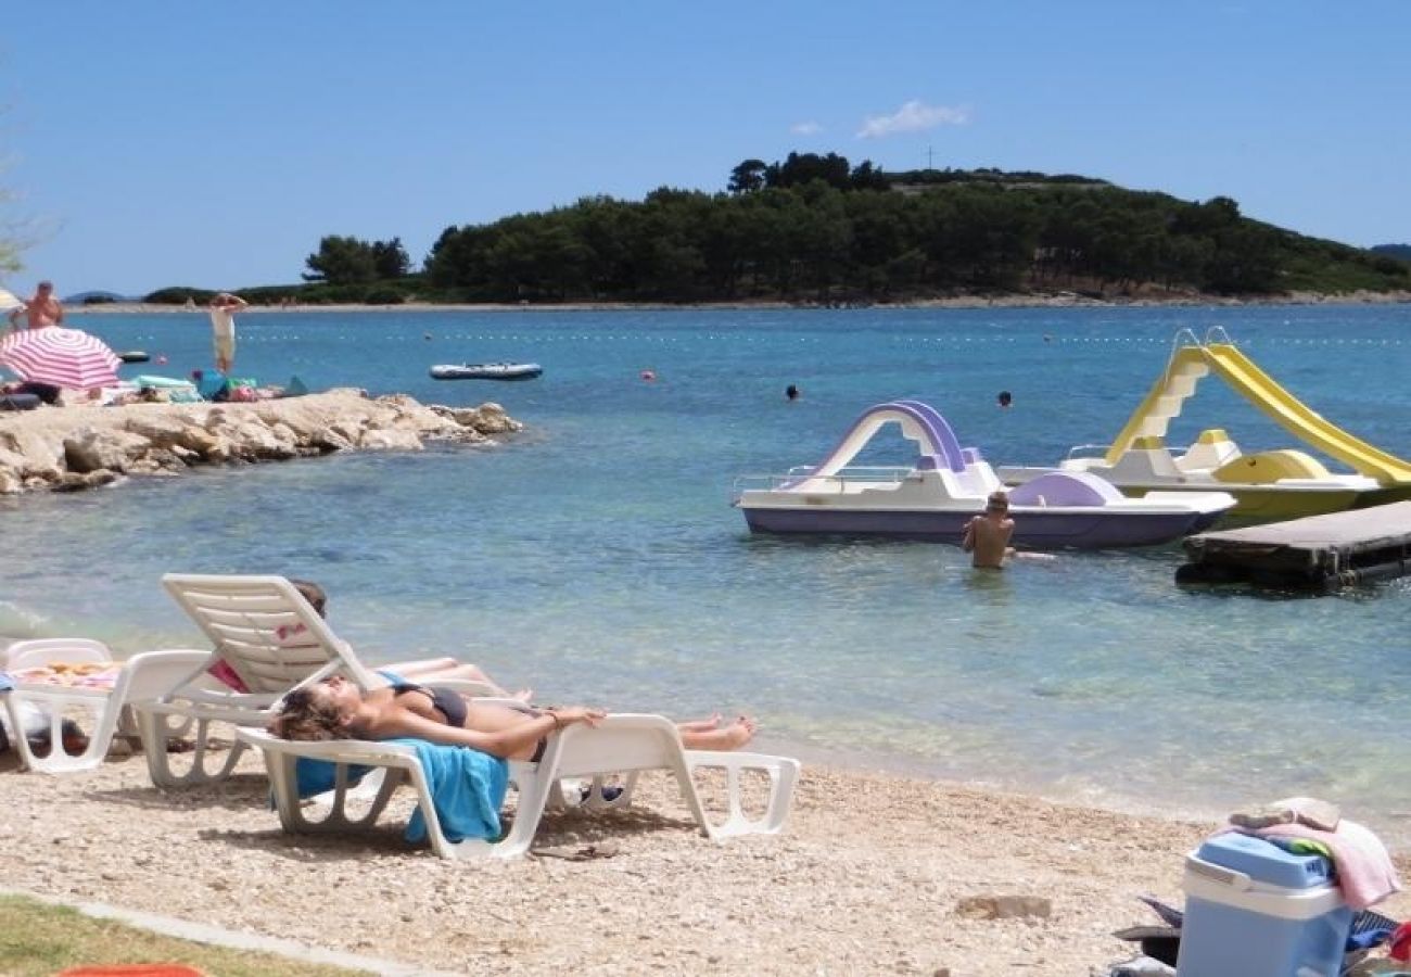
[[[509,781],[519,791],[514,825],[498,841],[466,839],[452,841],[442,830],[436,808],[416,751],[399,743],[370,743],[363,740],[333,740],[322,743],[288,741],[264,730],[241,729],[238,737],[265,754],[265,768],[274,785],[279,822],[291,833],[343,833],[370,830],[387,808],[398,786],[411,784],[416,803],[426,819],[426,833],[432,850],[442,858],[512,858],[529,850],[546,809],[566,806],[560,784],[564,778],[591,778],[593,788],[580,805],[588,810],[628,808],[636,774],[649,769],[670,772],[690,808],[701,834],[722,840],[739,834],[776,834],[783,829],[793,803],[793,789],[799,779],[799,761],[755,753],[717,753],[684,750],[676,724],[663,716],[617,713],[598,726],[570,726],[549,737],[549,744],[538,764],[511,762]],[[299,758],[323,760],[336,764],[334,788],[317,801],[301,803],[295,765]],[[385,771],[375,774],[354,789],[349,767],[363,765]],[[696,789],[693,774],[700,769],[721,769],[725,774],[728,813],[713,822]],[[751,816],[745,810],[742,775],[762,774],[769,789],[762,813]],[[628,774],[622,792],[612,799],[604,795],[604,778]],[[370,784],[371,781],[371,784]],[[375,796],[373,796],[375,791]],[[371,801],[358,816],[350,815],[349,801]],[[322,812],[320,817],[310,817]]]

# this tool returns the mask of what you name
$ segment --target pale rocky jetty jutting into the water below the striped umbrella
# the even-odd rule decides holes
[[[44,407],[0,415],[0,494],[75,491],[198,464],[418,450],[430,439],[488,443],[522,426],[498,404],[449,408],[347,388],[253,404]]]

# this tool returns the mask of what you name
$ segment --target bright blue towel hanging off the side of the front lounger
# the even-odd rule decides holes
[[[499,808],[509,789],[509,764],[470,747],[447,747],[426,740],[391,740],[416,747],[426,772],[432,806],[442,833],[452,841],[499,837]],[[404,837],[426,839],[426,817],[418,808]]]

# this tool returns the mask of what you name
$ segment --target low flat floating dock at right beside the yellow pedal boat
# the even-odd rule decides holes
[[[1309,515],[1182,541],[1177,583],[1253,583],[1328,593],[1411,573],[1411,503]]]

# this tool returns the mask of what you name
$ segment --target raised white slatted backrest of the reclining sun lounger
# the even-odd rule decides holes
[[[284,695],[343,672],[368,688],[353,649],[282,576],[168,573],[162,586],[250,692]]]

